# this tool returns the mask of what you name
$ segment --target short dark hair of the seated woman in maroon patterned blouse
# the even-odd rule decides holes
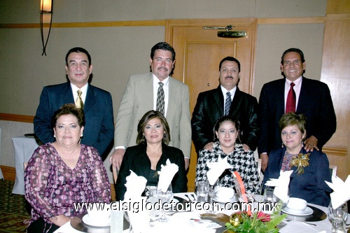
[[[78,118],[78,125],[80,127],[85,125],[85,114],[83,109],[76,108],[75,104],[64,104],[57,109],[55,113],[53,113],[51,122],[52,128],[56,127],[57,120],[62,115],[74,115],[76,118]]]

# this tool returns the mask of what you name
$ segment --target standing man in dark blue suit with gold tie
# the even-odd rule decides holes
[[[34,132],[43,142],[55,141],[51,118],[63,104],[75,103],[82,92],[85,129],[81,143],[97,148],[102,158],[111,150],[114,126],[113,104],[109,92],[88,83],[92,76],[91,57],[83,48],[72,48],[66,54],[66,76],[69,82],[43,87],[34,117]]]

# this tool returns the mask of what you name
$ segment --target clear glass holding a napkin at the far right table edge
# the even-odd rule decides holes
[[[332,202],[328,206],[328,219],[332,222],[332,232],[346,232],[344,223],[348,216],[346,202],[340,205],[338,208],[332,207]]]

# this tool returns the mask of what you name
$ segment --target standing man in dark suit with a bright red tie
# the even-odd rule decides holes
[[[307,137],[304,149],[321,150],[337,127],[330,90],[325,83],[302,76],[305,71],[304,54],[290,48],[281,57],[281,72],[285,78],[263,85],[260,92],[260,139],[258,153],[265,171],[271,150],[281,148],[279,120],[286,113],[290,83],[296,97],[296,112],[307,117]]]

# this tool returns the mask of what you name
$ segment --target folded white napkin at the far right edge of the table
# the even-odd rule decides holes
[[[345,182],[337,176],[332,176],[332,183],[328,181],[325,181],[325,183],[334,191],[330,194],[333,209],[338,208],[350,199],[350,175]]]

